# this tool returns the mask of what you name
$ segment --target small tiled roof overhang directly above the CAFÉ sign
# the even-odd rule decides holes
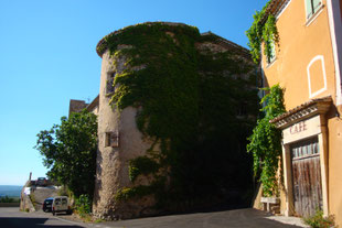
[[[331,104],[331,96],[312,99],[280,115],[279,117],[276,117],[269,122],[275,123],[278,129],[285,129],[290,124],[297,123],[310,117],[325,115],[329,111]]]

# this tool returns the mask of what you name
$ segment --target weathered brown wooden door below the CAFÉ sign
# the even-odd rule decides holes
[[[295,210],[299,216],[322,209],[322,182],[318,138],[291,144]]]

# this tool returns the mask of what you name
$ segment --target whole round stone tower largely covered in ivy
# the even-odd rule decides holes
[[[249,165],[245,139],[258,104],[248,50],[182,23],[147,22],[108,34],[96,51],[103,64],[95,216],[153,215],[184,200],[195,207],[212,189],[246,188],[235,170]],[[207,178],[212,165],[223,169]]]

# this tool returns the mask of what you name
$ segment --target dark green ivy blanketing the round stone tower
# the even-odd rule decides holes
[[[111,105],[136,107],[138,129],[154,140],[146,156],[129,163],[132,182],[139,175],[154,181],[124,188],[117,199],[152,193],[159,203],[182,202],[246,187],[249,163],[242,148],[255,123],[248,115],[257,113],[257,73],[234,53],[196,47],[218,40],[188,25],[147,23],[110,34],[99,45],[99,53],[109,50],[114,64],[125,59],[127,66],[116,73]],[[247,113],[238,117],[242,106]],[[242,167],[245,172],[238,172]]]

